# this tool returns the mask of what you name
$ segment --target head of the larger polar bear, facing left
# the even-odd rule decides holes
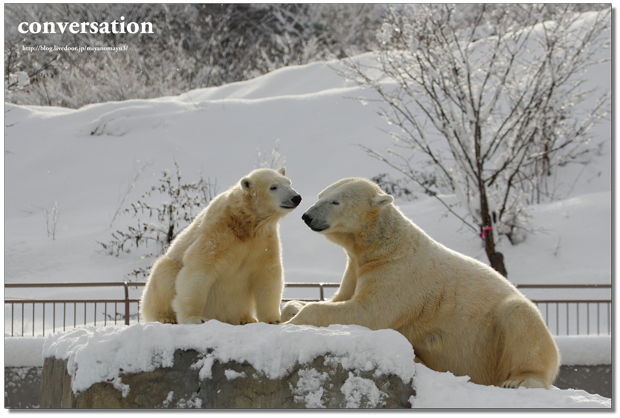
[[[316,232],[356,232],[393,201],[370,180],[346,178],[319,193],[301,218]]]

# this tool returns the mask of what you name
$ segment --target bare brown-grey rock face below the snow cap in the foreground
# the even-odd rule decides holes
[[[345,370],[319,356],[296,365],[281,379],[269,379],[248,364],[215,360],[211,377],[200,379],[195,350],[177,350],[173,367],[120,373],[73,393],[67,360],[45,359],[42,408],[410,408],[410,382],[374,370]],[[326,360],[327,359],[327,360]]]

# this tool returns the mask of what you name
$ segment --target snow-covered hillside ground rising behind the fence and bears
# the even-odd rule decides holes
[[[323,188],[343,177],[370,178],[379,173],[401,177],[359,147],[384,152],[393,144],[382,131],[389,127],[377,115],[378,105],[352,99],[372,97],[372,93],[340,77],[334,68],[341,65],[332,61],[282,68],[253,80],[180,96],[77,110],[5,104],[5,283],[126,280],[128,272],[153,260],[136,254],[105,255],[97,242],[109,242],[112,232],[135,225],[136,219],[129,215],[110,223],[139,167],[148,163],[123,208],[157,184],[163,170],[173,171],[175,161],[184,182],[201,175],[217,179],[221,192],[256,168],[258,152],[269,153],[276,141],[286,158],[287,175],[303,197],[300,207],[281,222],[286,281],[338,283],[345,267],[343,251],[307,228],[300,219],[302,213]],[[611,89],[609,63],[597,65],[586,76],[601,91]],[[597,143],[606,141],[600,153],[587,165],[567,165],[556,171],[553,182],[559,199],[531,208],[534,233],[517,246],[499,242],[513,283],[611,283],[611,123],[604,121],[591,134]],[[454,196],[444,199],[456,203]],[[52,239],[45,217],[55,202],[59,218]],[[433,198],[417,193],[413,201],[396,204],[437,241],[487,262],[479,237],[466,231]],[[611,297],[604,290],[524,293],[538,299]],[[88,288],[5,290],[6,298],[118,295],[109,289],[97,289],[94,294]],[[134,296],[139,297],[139,292]],[[293,297],[316,296],[313,292]],[[5,335],[7,312],[5,308]],[[605,330],[606,318],[605,314],[601,319]],[[5,338],[9,340],[15,339]],[[590,361],[584,359],[589,352],[611,351],[610,337],[597,341],[591,343],[598,344],[595,350],[571,351],[577,346],[570,339],[558,343],[561,349],[566,347],[562,349],[565,358],[565,352],[581,350],[582,361]],[[5,358],[13,347],[7,344]],[[421,376],[434,373],[416,370]],[[449,380],[463,394],[473,388],[463,378],[442,375],[437,379]],[[444,383],[438,385],[450,386]],[[447,396],[448,389],[443,390],[439,393]],[[488,393],[489,399],[501,399],[495,392]],[[468,398],[473,396],[462,399]]]

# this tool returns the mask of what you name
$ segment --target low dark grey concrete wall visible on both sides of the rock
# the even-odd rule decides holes
[[[612,366],[562,366],[555,386],[612,397]],[[42,367],[4,368],[4,407],[38,408]]]

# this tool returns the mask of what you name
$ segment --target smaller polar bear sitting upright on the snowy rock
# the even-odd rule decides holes
[[[284,279],[278,221],[301,202],[285,173],[285,168],[252,171],[173,240],[153,265],[142,294],[145,321],[280,322]]]

